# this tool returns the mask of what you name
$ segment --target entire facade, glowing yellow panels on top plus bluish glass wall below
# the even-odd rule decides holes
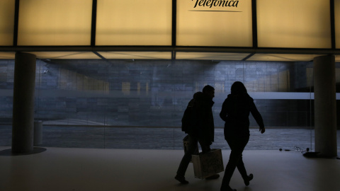
[[[0,2],[0,145],[11,145],[22,51],[38,58],[42,146],[181,149],[183,110],[209,84],[223,149],[219,112],[242,81],[268,128],[259,136],[250,117],[246,149],[314,148],[311,61],[338,54],[340,0],[79,1]]]

